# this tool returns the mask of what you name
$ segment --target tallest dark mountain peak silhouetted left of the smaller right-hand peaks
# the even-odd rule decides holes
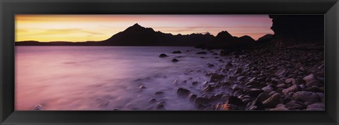
[[[102,42],[109,46],[196,46],[211,40],[213,35],[210,34],[165,34],[136,23]]]

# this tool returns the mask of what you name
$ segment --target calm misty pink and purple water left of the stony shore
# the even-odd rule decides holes
[[[198,51],[193,47],[16,46],[16,110],[33,110],[37,104],[44,110],[149,110],[162,100],[165,110],[195,110],[187,98],[177,96],[177,88],[189,88],[199,96],[202,86],[191,82],[208,81],[204,72],[214,72],[220,60],[212,53],[196,55]],[[160,53],[169,57],[159,58]],[[180,61],[171,62],[176,56],[182,56],[177,57]],[[208,68],[208,63],[216,67]],[[164,94],[155,95],[156,91]],[[149,103],[150,98],[157,102]]]

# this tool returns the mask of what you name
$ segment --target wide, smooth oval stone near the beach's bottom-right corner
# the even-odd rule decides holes
[[[319,96],[314,92],[309,91],[298,91],[295,94],[293,94],[294,100],[300,100],[302,102],[319,102],[320,98]]]

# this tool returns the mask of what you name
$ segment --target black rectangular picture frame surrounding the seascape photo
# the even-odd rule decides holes
[[[0,0],[0,124],[338,124],[338,0]],[[325,15],[326,111],[15,111],[15,14]]]

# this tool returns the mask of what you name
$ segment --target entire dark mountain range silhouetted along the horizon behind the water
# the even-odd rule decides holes
[[[271,36],[271,35],[268,35]],[[267,37],[267,35],[266,35]],[[260,40],[260,39],[259,39]],[[212,34],[167,34],[136,23],[103,41],[18,41],[16,46],[248,46],[256,41],[249,36],[234,37],[227,31]]]

